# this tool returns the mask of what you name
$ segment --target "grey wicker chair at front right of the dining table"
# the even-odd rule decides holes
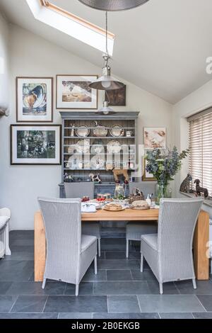
[[[192,242],[202,198],[160,199],[158,235],[141,236],[141,272],[143,257],[163,283],[192,279],[196,289]]]

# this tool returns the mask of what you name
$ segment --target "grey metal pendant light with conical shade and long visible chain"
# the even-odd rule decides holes
[[[110,66],[108,65],[110,56],[107,49],[107,11],[106,11],[106,53],[103,55],[103,59],[105,64],[104,67],[102,68],[102,77],[89,84],[90,88],[97,90],[116,90],[124,87],[124,84],[121,81],[115,79],[114,77],[111,77],[110,75],[111,69]]]

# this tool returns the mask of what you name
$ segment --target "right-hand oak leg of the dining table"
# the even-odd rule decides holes
[[[197,280],[209,279],[208,240],[209,214],[201,210],[194,232],[194,270]]]

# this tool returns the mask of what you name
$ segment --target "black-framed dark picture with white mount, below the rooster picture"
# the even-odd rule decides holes
[[[11,125],[11,164],[60,165],[61,125]]]

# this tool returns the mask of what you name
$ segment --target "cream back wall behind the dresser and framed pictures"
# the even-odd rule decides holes
[[[16,123],[16,76],[54,77],[55,91],[56,74],[100,74],[101,69],[18,26],[10,27],[10,55],[11,115],[0,123],[0,142],[4,142],[0,156],[0,206],[11,208],[12,230],[30,230],[33,229],[33,215],[38,209],[37,196],[59,196],[61,166],[10,165],[9,125]],[[172,145],[170,104],[129,82],[126,82],[126,85],[127,106],[117,110],[141,111],[139,142],[143,143],[143,126],[165,126],[168,145]],[[100,96],[100,104],[101,101]],[[61,123],[59,111],[55,110],[55,94],[54,123]]]

